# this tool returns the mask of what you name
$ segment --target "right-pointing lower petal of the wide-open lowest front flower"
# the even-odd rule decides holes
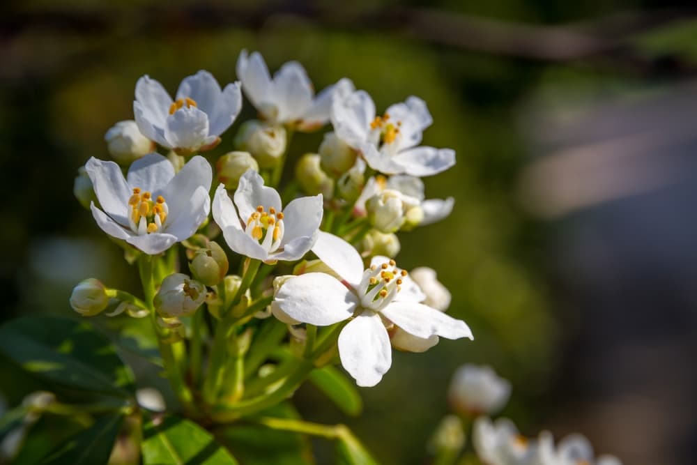
[[[383,308],[382,314],[407,333],[424,339],[433,335],[446,339],[474,339],[464,321],[420,303],[395,301]]]

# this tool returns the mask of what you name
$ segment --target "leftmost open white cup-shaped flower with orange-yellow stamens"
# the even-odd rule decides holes
[[[133,162],[125,178],[114,162],[90,158],[85,168],[102,207],[90,205],[99,227],[146,254],[190,238],[208,217],[213,173],[203,157],[195,156],[176,175],[157,153]]]

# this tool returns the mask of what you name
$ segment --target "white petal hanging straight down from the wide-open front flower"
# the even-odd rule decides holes
[[[392,365],[388,330],[372,312],[363,312],[348,323],[338,344],[342,366],[358,386],[375,386]]]

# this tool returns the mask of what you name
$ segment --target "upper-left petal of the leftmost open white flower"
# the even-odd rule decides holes
[[[128,199],[132,191],[123,178],[121,168],[115,162],[90,158],[85,170],[92,181],[94,193],[100,206],[113,220],[128,225]]]

